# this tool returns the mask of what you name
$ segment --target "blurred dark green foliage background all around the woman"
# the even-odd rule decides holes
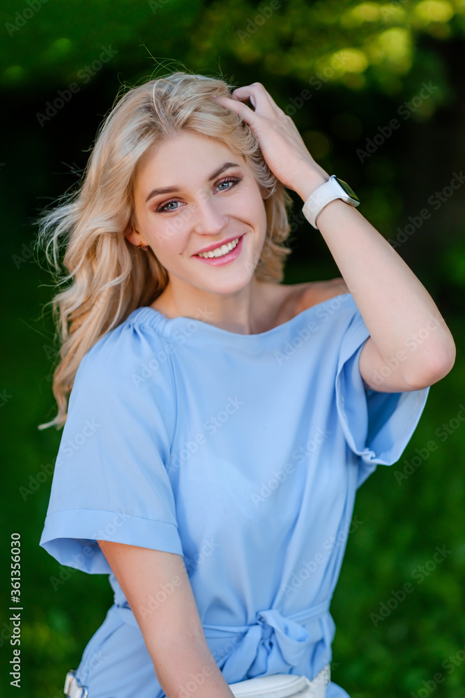
[[[437,208],[428,199],[465,162],[464,1],[3,0],[0,15],[1,556],[9,568],[10,533],[19,531],[24,607],[22,688],[13,689],[5,569],[0,695],[63,695],[66,671],[77,667],[112,604],[105,575],[61,567],[38,546],[51,477],[40,482],[44,476],[37,475],[50,470],[61,432],[37,429],[55,411],[57,347],[44,309],[52,278],[31,253],[32,221],[77,181],[119,89],[181,65],[222,72],[237,85],[263,82],[323,168],[357,191],[363,215],[397,244],[455,336],[455,367],[431,388],[401,459],[379,466],[358,493],[355,514],[363,525],[349,536],[332,604],[332,672],[352,698],[463,697],[464,426],[450,428],[445,439],[437,430],[465,402],[465,188]],[[105,47],[114,57],[97,68]],[[70,101],[40,122],[47,103],[73,82],[79,90]],[[424,84],[431,94],[419,99]],[[382,140],[393,118],[400,127]],[[368,140],[379,144],[360,155]],[[295,201],[294,254],[284,283],[339,276]],[[422,209],[431,216],[406,235]],[[424,452],[431,440],[437,449],[412,471],[417,449]],[[399,480],[404,468],[411,475]],[[412,572],[436,546],[450,554],[419,583]],[[50,579],[60,575],[63,584],[54,591]],[[413,593],[375,627],[370,614],[379,614],[407,581]]]

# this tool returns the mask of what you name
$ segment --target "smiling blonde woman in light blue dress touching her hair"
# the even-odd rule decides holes
[[[280,283],[284,187],[343,278]],[[119,100],[45,217],[72,283],[54,299],[59,413],[41,426],[66,424],[40,545],[114,589],[73,697],[327,676],[356,489],[455,360],[357,204],[261,84],[174,73]]]

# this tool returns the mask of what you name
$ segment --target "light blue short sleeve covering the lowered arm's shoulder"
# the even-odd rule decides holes
[[[166,468],[175,417],[169,346],[128,321],[104,335],[77,369],[40,546],[91,574],[112,572],[98,539],[182,555]]]

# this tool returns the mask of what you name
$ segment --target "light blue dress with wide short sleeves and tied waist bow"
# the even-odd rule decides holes
[[[77,667],[90,698],[165,695],[97,539],[184,556],[227,683],[330,662],[356,489],[399,459],[429,392],[365,389],[368,337],[345,293],[248,335],[144,306],[84,355],[40,545],[114,589]]]

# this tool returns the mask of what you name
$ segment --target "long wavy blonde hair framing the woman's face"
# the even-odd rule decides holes
[[[66,422],[68,396],[86,352],[140,306],[152,304],[169,281],[153,251],[125,238],[134,213],[132,191],[137,164],[148,148],[181,130],[217,138],[241,154],[257,183],[267,190],[267,230],[254,275],[280,282],[291,252],[291,197],[270,171],[250,126],[209,97],[230,96],[234,86],[217,77],[174,72],[132,87],[104,119],[76,191],[66,193],[38,218],[36,246],[58,272],[56,286],[68,284],[48,304],[60,348],[52,390],[58,413],[38,429]],[[59,253],[64,247],[59,276]],[[70,283],[68,283],[70,282]]]

